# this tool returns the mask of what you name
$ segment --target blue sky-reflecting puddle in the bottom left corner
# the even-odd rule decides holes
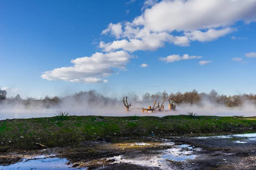
[[[38,156],[41,157],[41,156]],[[0,170],[75,170],[66,165],[67,159],[43,158],[43,159],[24,159],[21,162],[9,166],[0,166]]]

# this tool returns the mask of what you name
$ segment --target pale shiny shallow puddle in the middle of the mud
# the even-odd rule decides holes
[[[139,144],[139,143],[137,143]],[[144,144],[144,143],[140,143]],[[174,145],[174,142],[166,142],[160,145]],[[136,164],[145,167],[158,167],[162,170],[173,170],[169,167],[169,161],[186,161],[187,159],[195,159],[198,157],[195,155],[195,151],[200,151],[201,148],[193,148],[188,144],[174,145],[174,147],[160,150],[160,153],[153,155],[137,155],[136,158],[130,158],[129,155],[114,156],[107,159],[115,159],[111,164],[116,163],[129,163]]]

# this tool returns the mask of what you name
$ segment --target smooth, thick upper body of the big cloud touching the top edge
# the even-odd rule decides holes
[[[196,31],[256,21],[255,8],[256,0],[162,0],[133,24],[154,32]]]

